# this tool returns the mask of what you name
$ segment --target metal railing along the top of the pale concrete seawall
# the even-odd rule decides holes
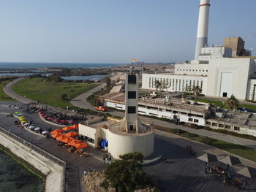
[[[64,161],[62,161],[59,158],[56,158],[55,156],[51,155],[50,153],[46,152],[45,150],[40,149],[39,147],[31,144],[31,142],[27,142],[25,139],[22,139],[20,137],[18,137],[15,134],[10,133],[10,131],[7,131],[6,129],[0,127],[0,132],[6,134],[8,137],[11,137],[12,139],[15,139],[16,141],[20,142],[22,145],[26,145],[26,147],[31,148],[31,150],[36,151],[37,153],[39,153],[40,155],[45,156],[45,158],[50,159],[51,161],[53,161],[56,164],[59,164],[60,166],[64,167],[64,180],[62,183],[62,191],[66,191],[66,163]]]

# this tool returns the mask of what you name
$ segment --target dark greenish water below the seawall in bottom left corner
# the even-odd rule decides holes
[[[0,150],[1,192],[42,192],[45,185],[39,177]]]

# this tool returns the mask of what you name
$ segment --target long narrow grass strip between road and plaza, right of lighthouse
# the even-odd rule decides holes
[[[155,126],[156,129],[159,129],[161,131],[169,132],[171,134],[177,134],[176,128],[167,128],[167,127],[161,127],[161,126]],[[221,150],[225,150],[229,153],[233,153],[236,155],[239,155],[243,158],[249,159],[251,161],[256,162],[256,150],[250,149],[248,147],[244,147],[241,145],[236,145],[230,142],[224,142],[217,139],[211,139],[210,137],[203,137],[199,136],[197,134],[191,134],[187,131],[179,130],[179,136],[186,137],[188,139],[195,140],[197,142],[203,142],[206,145],[211,145],[213,147],[217,147]]]

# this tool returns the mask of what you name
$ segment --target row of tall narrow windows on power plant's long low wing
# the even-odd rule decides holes
[[[157,81],[161,83],[163,89],[171,89],[172,91],[185,91],[187,88],[190,90],[198,86],[203,88],[203,80],[178,80],[178,79],[167,79],[159,77],[149,77],[149,88],[157,88]]]

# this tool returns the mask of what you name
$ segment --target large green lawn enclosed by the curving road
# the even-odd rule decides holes
[[[98,83],[44,82],[42,78],[37,77],[20,80],[12,86],[12,90],[34,101],[39,100],[43,104],[65,108],[71,106],[69,100],[98,85]],[[69,100],[61,99],[61,95],[65,93]]]

